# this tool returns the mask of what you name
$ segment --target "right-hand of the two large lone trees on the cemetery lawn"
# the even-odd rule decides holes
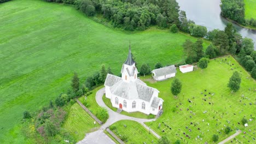
[[[241,77],[237,71],[233,73],[233,75],[229,79],[228,87],[231,91],[237,92],[240,88]]]

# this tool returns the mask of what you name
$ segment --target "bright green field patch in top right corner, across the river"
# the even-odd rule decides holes
[[[245,1],[245,18],[256,19],[256,1],[255,0],[244,0]]]

